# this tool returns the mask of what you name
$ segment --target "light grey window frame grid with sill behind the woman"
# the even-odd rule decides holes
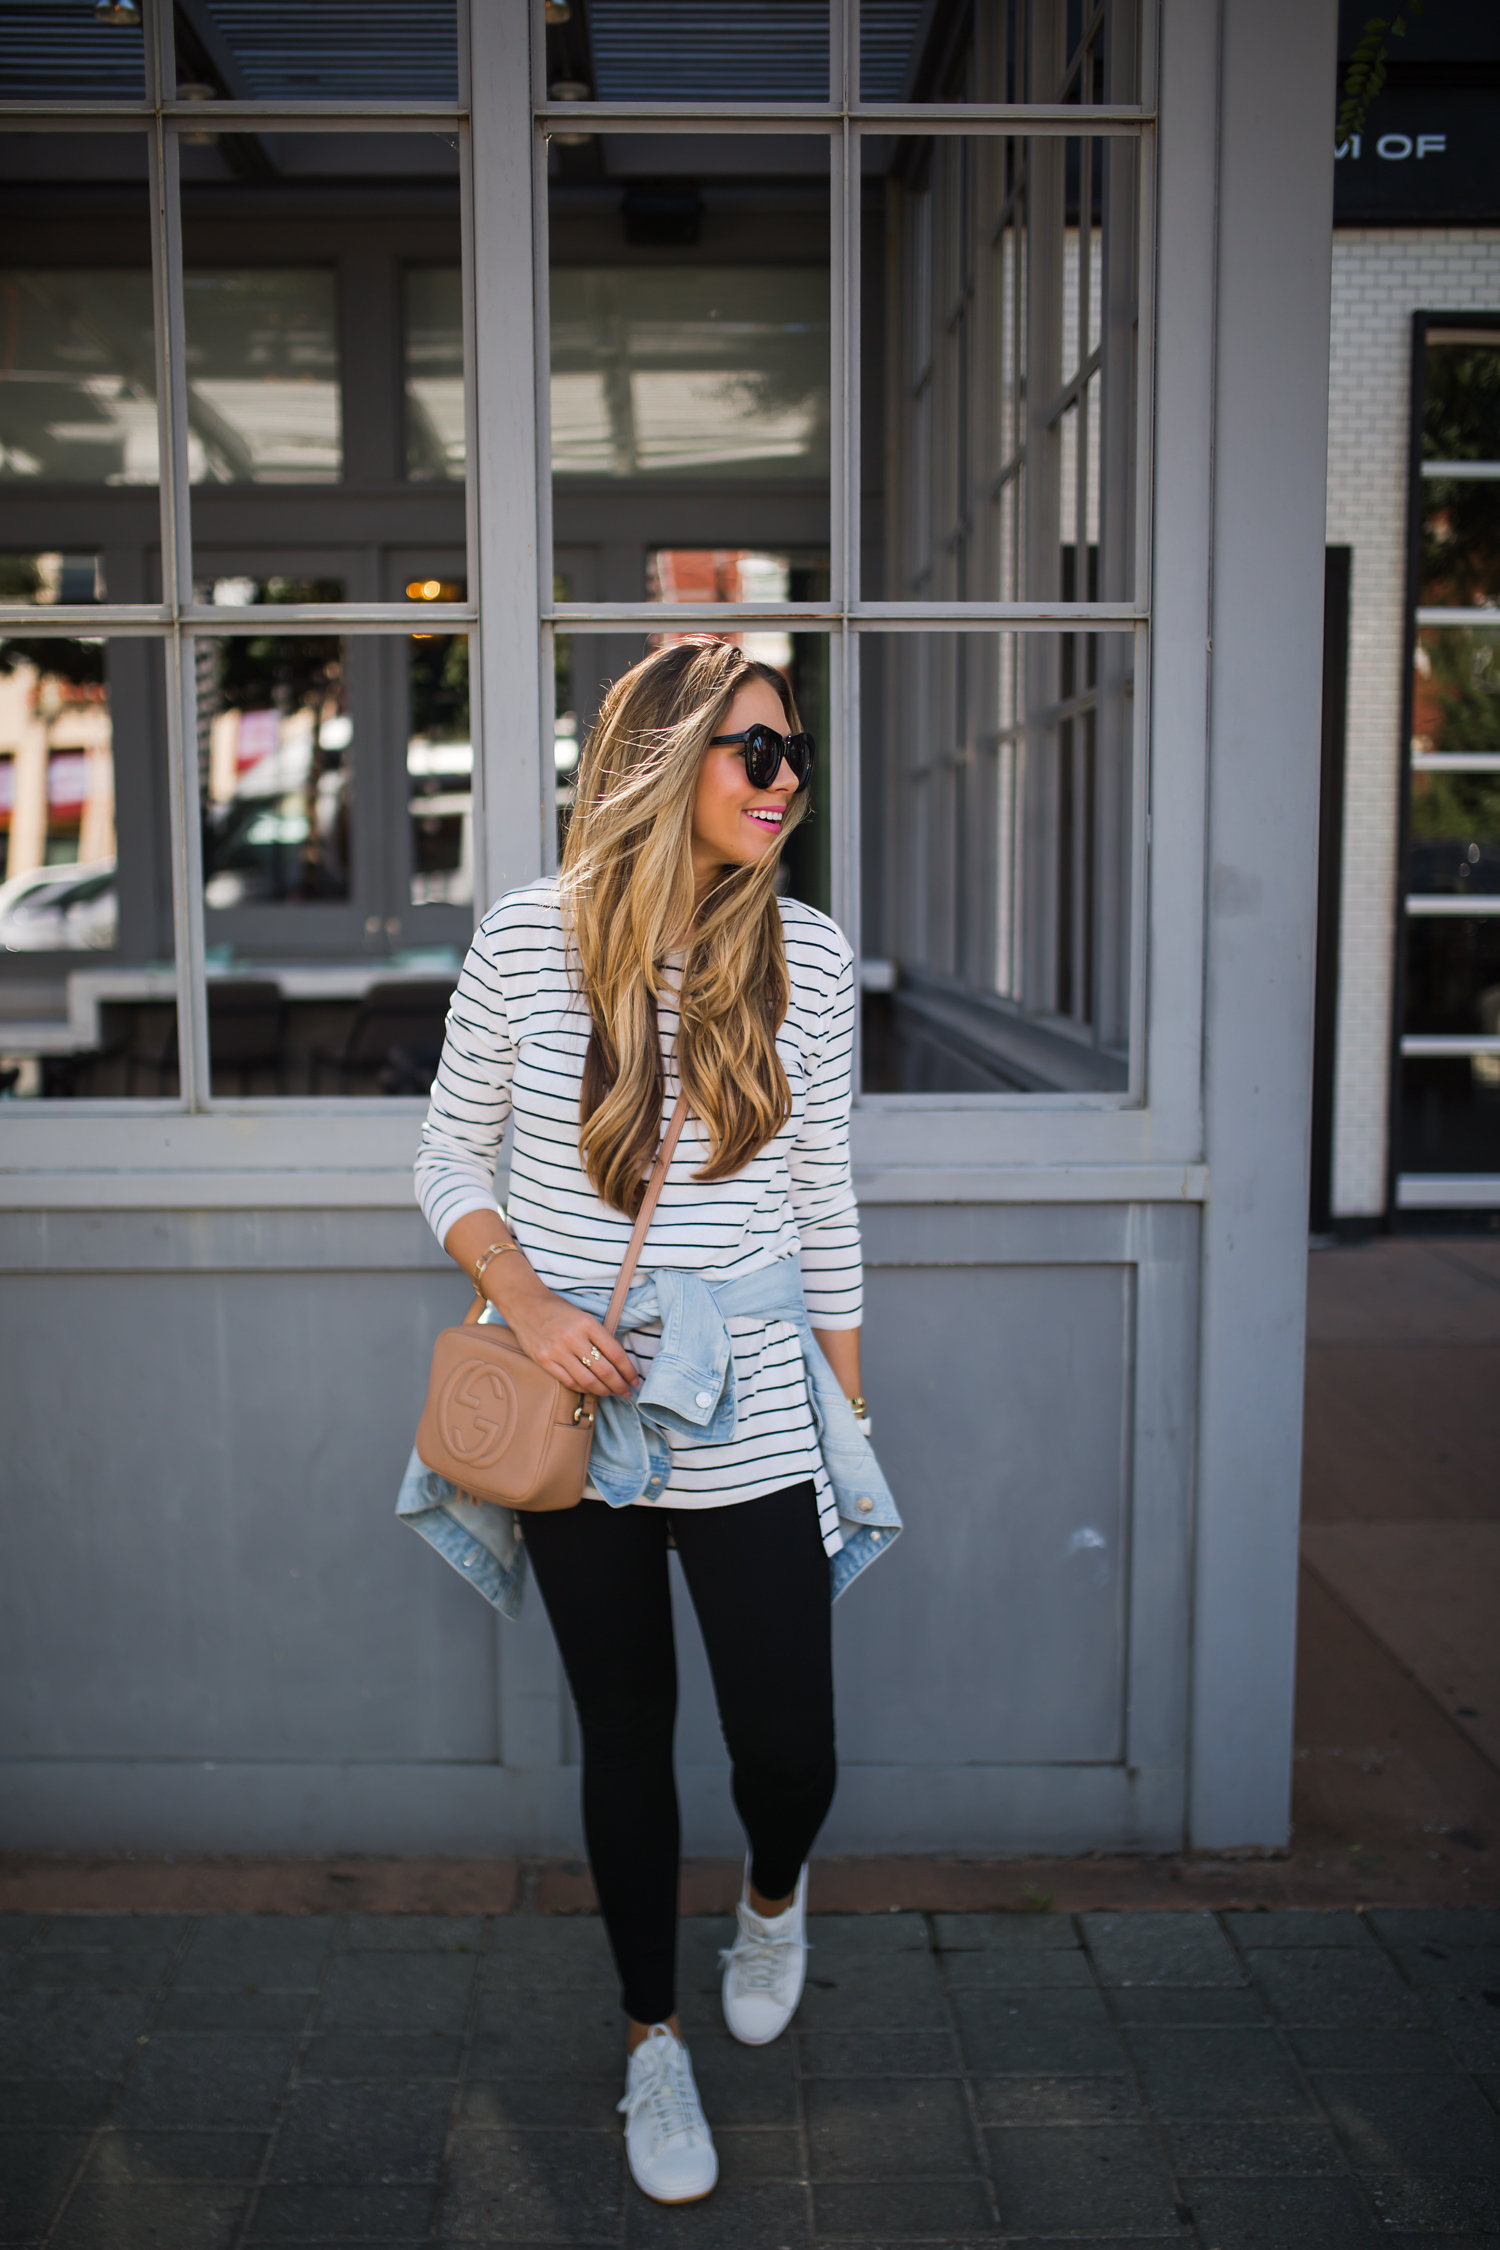
[[[553,603],[551,464],[546,428],[546,133],[652,130],[798,135],[830,144],[832,196],[832,493],[828,603],[672,608],[672,626],[801,626],[830,639],[830,826],[832,911],[859,932],[859,666],[864,632],[996,630],[1048,632],[1127,628],[1136,641],[1131,999],[1129,1087],[1120,1094],[866,1096],[855,1120],[861,1192],[895,1202],[1181,1197],[1201,1188],[1199,1015],[1165,1042],[1151,1071],[1154,1022],[1147,932],[1167,914],[1192,958],[1201,920],[1174,880],[1149,896],[1151,734],[1151,520],[1156,380],[1156,0],[1140,0],[1140,101],[1075,104],[864,104],[857,99],[859,0],[830,0],[830,94],[825,104],[551,104],[544,83],[542,14],[531,0],[459,0],[459,97],[454,104],[308,101],[216,104],[216,126],[259,130],[448,133],[461,151],[463,344],[468,416],[470,598],[434,603],[423,626],[470,637],[477,900],[533,880],[553,850],[551,641],[573,634],[659,630],[648,603]],[[144,0],[146,92],[142,104],[0,104],[0,128],[76,133],[133,130],[151,140],[155,218],[157,414],[162,436],[160,605],[99,603],[88,610],[0,605],[0,630],[90,637],[146,634],[169,666],[171,864],[182,1089],[178,1100],[58,1100],[7,1105],[0,1120],[0,1202],[40,1208],[137,1204],[180,1206],[371,1206],[409,1202],[412,1100],[216,1100],[209,1091],[202,875],[191,648],[198,634],[263,632],[263,610],[198,608],[191,601],[187,486],[187,389],[182,371],[182,241],[178,133],[200,128],[196,104],[175,88],[171,0]],[[1208,119],[1212,128],[1212,119]],[[1061,601],[864,601],[859,556],[859,142],[866,135],[1129,135],[1140,148],[1140,369],[1136,412],[1133,598]],[[1192,164],[1192,158],[1190,158]],[[1178,196],[1185,191],[1178,189]],[[1187,212],[1181,214],[1187,230]],[[484,245],[484,254],[475,254]],[[533,304],[531,326],[515,317]],[[1205,405],[1205,362],[1187,376]],[[850,412],[855,410],[855,412]],[[1176,448],[1190,459],[1192,432]],[[1203,470],[1194,464],[1194,490]],[[531,538],[526,538],[531,529]],[[544,594],[546,590],[546,594]],[[1196,587],[1183,585],[1190,608]],[[400,634],[403,603],[286,605],[279,630]],[[504,684],[504,686],[501,686]],[[486,702],[488,698],[488,702]],[[1183,742],[1185,754],[1192,742]],[[1174,758],[1174,763],[1178,763]],[[1192,821],[1192,803],[1185,812]],[[1178,832],[1181,832],[1181,824]],[[1185,839],[1192,839],[1192,826]],[[1196,873],[1196,839],[1194,873]],[[481,911],[481,909],[479,909]],[[1174,979],[1176,992],[1181,983]],[[1151,1116],[1156,1109],[1156,1116]],[[335,1127],[337,1120],[337,1127]]]

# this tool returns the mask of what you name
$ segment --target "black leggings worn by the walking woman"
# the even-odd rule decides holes
[[[636,2023],[663,2023],[677,1969],[677,1647],[668,1532],[708,1649],[751,1881],[785,1899],[834,1796],[832,1591],[812,1483],[729,1508],[526,1516],[582,1735],[582,1827]]]

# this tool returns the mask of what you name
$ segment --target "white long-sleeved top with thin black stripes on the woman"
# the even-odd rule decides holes
[[[850,1181],[848,1114],[855,1046],[855,961],[825,914],[780,900],[792,999],[776,1035],[792,1087],[787,1125],[733,1179],[693,1179],[708,1141],[688,1118],[652,1217],[641,1271],[677,1267],[706,1280],[753,1274],[801,1251],[814,1328],[859,1328],[859,1213]],[[589,1015],[569,968],[558,884],[510,891],[475,934],[448,1012],[448,1040],[416,1159],[416,1192],[445,1238],[466,1210],[495,1210],[495,1159],[513,1120],[506,1222],[553,1289],[609,1289],[630,1242],[630,1220],[607,1208],[578,1161],[578,1094]],[[677,1100],[677,1010],[661,1004],[666,1094]],[[839,1523],[819,1454],[807,1375],[787,1321],[733,1316],[740,1402],[729,1444],[672,1440],[663,1498],[672,1508],[724,1508],[812,1478],[823,1544]],[[659,1334],[636,1330],[641,1368]],[[650,1505],[650,1503],[641,1503]]]

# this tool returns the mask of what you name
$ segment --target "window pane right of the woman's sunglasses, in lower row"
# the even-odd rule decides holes
[[[1127,1082],[1131,639],[861,641],[868,1094]]]

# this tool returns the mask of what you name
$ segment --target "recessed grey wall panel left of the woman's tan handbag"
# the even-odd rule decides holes
[[[495,1757],[495,1620],[391,1512],[448,1316],[427,1276],[7,1282],[7,1748]]]

